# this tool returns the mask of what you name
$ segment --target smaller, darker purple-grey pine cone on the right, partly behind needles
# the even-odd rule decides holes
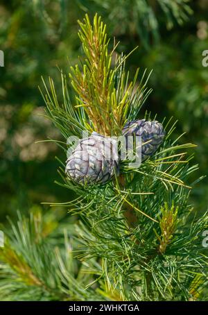
[[[158,121],[146,121],[146,119],[138,119],[125,124],[123,135],[141,136],[141,162],[153,155],[160,144],[162,144],[165,136],[165,130]],[[148,142],[147,144],[144,144]]]

